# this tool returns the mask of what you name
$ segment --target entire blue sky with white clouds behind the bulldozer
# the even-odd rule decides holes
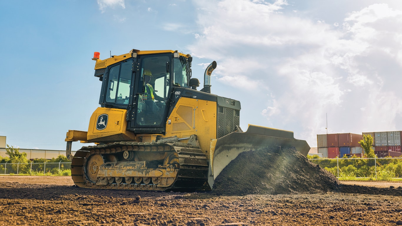
[[[212,93],[239,100],[240,126],[316,135],[402,130],[399,0],[0,2],[0,136],[65,149],[99,106],[100,58],[131,49],[217,61]],[[73,149],[82,146],[74,143]]]

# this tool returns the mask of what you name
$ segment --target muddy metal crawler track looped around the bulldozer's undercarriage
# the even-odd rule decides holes
[[[108,163],[110,160],[106,158],[107,156],[123,156],[124,151],[130,151],[142,156],[151,154],[172,156],[171,154],[173,153],[175,158],[174,160],[168,159],[167,162],[165,160],[165,163],[168,166],[167,168],[170,169],[171,173],[169,176],[165,177],[154,177],[150,182],[146,181],[145,179],[135,182],[135,180],[130,181],[131,179],[128,178],[127,180],[129,183],[127,183],[125,180],[113,180],[113,178],[111,178],[111,181],[109,181],[107,185],[99,185],[98,182],[90,179],[90,176],[88,176],[88,160],[91,159],[92,156],[103,156],[104,162]],[[116,163],[120,162],[124,162],[124,160],[117,161]],[[172,162],[175,164],[170,164]],[[96,168],[96,166],[94,168],[96,169],[97,174],[98,168]],[[172,173],[173,170],[174,172]],[[205,154],[202,153],[198,146],[175,142],[115,142],[107,145],[82,147],[74,155],[71,173],[72,179],[78,187],[142,191],[194,190],[201,189],[204,187],[204,185],[206,185],[208,162]],[[91,177],[94,178],[92,175]],[[110,178],[108,177],[108,179]],[[165,185],[162,185],[161,181],[166,180],[171,181],[171,183],[167,183],[168,186],[166,186],[166,183]]]

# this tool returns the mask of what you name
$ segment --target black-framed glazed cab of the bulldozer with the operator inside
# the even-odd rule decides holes
[[[126,109],[134,133],[164,133],[172,89],[189,87],[189,68],[182,54],[136,54],[107,66],[99,104]]]

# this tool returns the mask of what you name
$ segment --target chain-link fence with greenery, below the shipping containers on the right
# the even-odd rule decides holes
[[[310,159],[339,180],[402,180],[402,158]]]

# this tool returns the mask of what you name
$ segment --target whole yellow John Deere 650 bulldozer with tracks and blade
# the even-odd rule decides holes
[[[204,85],[192,78],[190,54],[140,51],[100,60],[99,104],[88,131],[69,130],[66,155],[78,187],[144,191],[209,190],[243,151],[295,147],[293,132],[249,125],[240,129],[240,102],[211,93],[213,61]],[[95,143],[72,156],[72,142]]]

